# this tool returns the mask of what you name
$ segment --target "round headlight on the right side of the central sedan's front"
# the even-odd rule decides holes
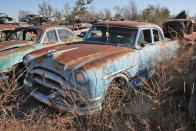
[[[80,85],[86,85],[88,82],[87,74],[84,71],[79,70],[75,73],[75,80]]]

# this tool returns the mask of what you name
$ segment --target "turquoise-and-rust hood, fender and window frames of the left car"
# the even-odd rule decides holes
[[[46,48],[49,46],[55,46],[55,45],[60,45],[64,44],[65,42],[61,41],[59,38],[59,34],[57,29],[65,29],[69,32],[71,30],[64,28],[64,27],[51,27],[45,30],[41,34],[41,38],[39,40],[39,43],[33,42],[33,41],[15,41],[10,44],[10,41],[7,42],[2,42],[0,43],[0,71],[1,72],[9,72],[14,65],[21,63],[23,60],[24,55],[38,49]],[[46,35],[46,33],[50,30],[55,30],[56,36],[57,36],[57,41],[53,42],[48,42],[48,43],[53,43],[51,45],[47,45],[43,42],[43,39]],[[72,33],[72,32],[71,32]],[[74,36],[74,34],[73,34]],[[76,41],[75,36],[72,39],[72,42]],[[2,44],[2,45],[1,45]],[[1,46],[8,45],[5,48],[1,48]]]

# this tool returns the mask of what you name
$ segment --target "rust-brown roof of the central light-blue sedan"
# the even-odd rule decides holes
[[[158,25],[148,22],[136,22],[136,21],[105,21],[98,22],[95,25],[118,25],[118,26],[127,26],[127,27],[157,27]]]

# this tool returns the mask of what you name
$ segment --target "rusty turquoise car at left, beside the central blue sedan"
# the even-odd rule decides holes
[[[37,49],[76,41],[77,36],[65,26],[32,26],[13,30],[0,42],[0,81],[11,69],[22,66],[23,56]]]

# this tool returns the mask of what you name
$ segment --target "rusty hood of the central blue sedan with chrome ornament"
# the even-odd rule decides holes
[[[43,63],[44,65],[44,59],[53,59],[55,63],[63,64],[65,68],[84,67],[87,69],[100,67],[102,64],[107,63],[107,61],[113,61],[118,57],[133,52],[131,48],[98,44],[61,45],[49,49],[50,51],[48,50],[48,52],[50,53],[39,57],[36,60],[37,64]],[[46,49],[39,50],[36,53],[41,53],[41,51],[46,51]],[[30,54],[33,55],[33,53]],[[52,61],[51,65],[54,64]]]

